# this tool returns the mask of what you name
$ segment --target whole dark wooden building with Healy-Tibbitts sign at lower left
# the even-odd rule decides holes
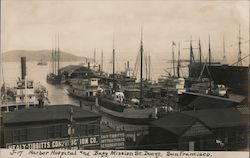
[[[20,149],[99,149],[101,116],[73,105],[3,114],[3,144]]]

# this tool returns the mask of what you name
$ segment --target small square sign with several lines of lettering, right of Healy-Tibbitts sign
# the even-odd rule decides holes
[[[101,135],[101,149],[124,149],[124,146],[124,132],[109,132]]]

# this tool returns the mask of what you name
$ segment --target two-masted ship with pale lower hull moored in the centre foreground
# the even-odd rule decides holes
[[[112,89],[104,90],[96,98],[96,106],[100,112],[120,121],[131,124],[148,124],[157,118],[158,108],[164,106],[159,99],[145,98],[143,95],[143,40],[141,32],[140,45],[140,89],[126,91],[137,93],[139,96],[125,95],[122,88],[118,88],[115,78],[115,48],[113,44],[113,84]],[[130,89],[131,90],[131,89]],[[131,97],[129,97],[131,96]]]

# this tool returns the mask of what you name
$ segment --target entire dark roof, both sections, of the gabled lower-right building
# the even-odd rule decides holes
[[[152,124],[180,136],[197,121],[210,129],[247,126],[248,123],[237,109],[224,108],[170,113]]]

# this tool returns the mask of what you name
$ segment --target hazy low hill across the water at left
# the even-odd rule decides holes
[[[51,50],[13,50],[2,54],[7,62],[20,61],[20,57],[26,57],[27,61],[51,61]],[[60,51],[60,61],[86,61],[86,58]]]

